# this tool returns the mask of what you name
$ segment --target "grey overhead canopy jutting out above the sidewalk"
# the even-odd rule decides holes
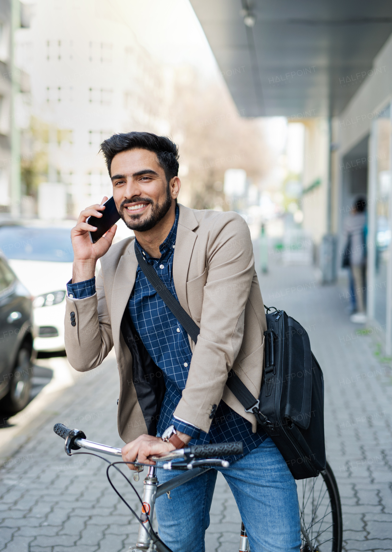
[[[190,1],[241,115],[339,115],[385,71],[373,60],[392,33],[390,0]]]

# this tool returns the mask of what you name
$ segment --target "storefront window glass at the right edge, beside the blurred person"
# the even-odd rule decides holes
[[[389,227],[390,171],[390,106],[383,109],[376,121],[377,187],[375,195],[375,273],[374,314],[382,325],[386,323],[387,266],[391,230]]]

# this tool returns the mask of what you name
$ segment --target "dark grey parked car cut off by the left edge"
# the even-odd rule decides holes
[[[14,414],[29,402],[33,298],[0,256],[0,410]]]

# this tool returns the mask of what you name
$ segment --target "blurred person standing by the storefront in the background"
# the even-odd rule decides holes
[[[350,316],[351,322],[366,322],[366,199],[359,197],[351,213],[343,221],[343,243],[345,262],[350,269],[350,294],[355,298],[356,311]]]

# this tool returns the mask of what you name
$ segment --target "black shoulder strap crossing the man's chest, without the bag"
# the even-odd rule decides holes
[[[176,319],[180,322],[181,326],[185,328],[186,332],[191,336],[192,341],[197,342],[197,336],[200,333],[200,328],[191,319],[189,314],[182,308],[180,303],[176,300],[171,291],[159,278],[154,267],[143,258],[135,242],[135,254],[139,267],[142,269],[144,276],[146,276],[148,282],[157,291],[160,298],[163,300],[166,306],[173,312]],[[240,401],[241,405],[245,408],[245,411],[253,412],[254,414],[259,412],[259,401],[251,394],[249,389],[243,384],[238,375],[233,369],[229,371],[226,385],[232,391],[233,395]]]

